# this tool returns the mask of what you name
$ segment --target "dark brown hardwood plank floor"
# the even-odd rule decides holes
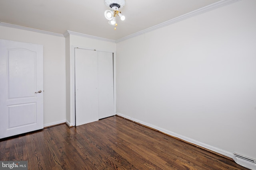
[[[0,140],[0,160],[28,160],[29,170],[248,170],[118,116]]]

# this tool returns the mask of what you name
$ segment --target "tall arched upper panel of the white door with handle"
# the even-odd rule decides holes
[[[36,53],[26,49],[8,49],[7,62],[8,98],[35,97]]]

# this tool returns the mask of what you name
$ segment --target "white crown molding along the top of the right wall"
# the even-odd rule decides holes
[[[174,18],[174,19],[172,19],[172,20],[165,21],[165,22],[160,23],[160,24],[158,24],[158,25],[155,25],[155,26],[153,26],[153,27],[149,27],[149,28],[144,29],[144,30],[142,30],[142,31],[139,31],[139,32],[137,32],[137,33],[134,33],[134,34],[128,35],[128,36],[126,36],[126,37],[123,37],[123,38],[121,38],[121,39],[118,39],[118,40],[116,40],[116,43],[118,43],[118,42],[120,42],[120,41],[124,41],[124,40],[126,40],[126,39],[130,39],[130,38],[132,38],[132,37],[136,37],[136,36],[138,36],[138,35],[142,35],[142,34],[144,34],[144,33],[148,33],[148,32],[150,32],[150,31],[154,31],[154,30],[156,30],[156,29],[159,29],[159,28],[162,28],[162,27],[165,27],[165,26],[174,24],[174,23],[179,22],[179,21],[182,21],[182,20],[186,20],[187,18],[191,18],[191,17],[193,17],[193,16],[196,16],[196,15],[199,15],[199,14],[203,14],[203,13],[205,13],[205,12],[214,10],[214,9],[216,9],[216,8],[220,8],[220,7],[222,7],[222,6],[226,6],[226,5],[232,4],[232,3],[237,2],[237,1],[240,1],[240,0],[220,0],[220,1],[218,1],[218,2],[215,2],[214,4],[210,4],[210,5],[208,5],[208,6],[205,6],[205,7],[203,7],[203,8],[200,8],[200,9],[198,9],[198,10],[194,10],[194,11],[189,12],[189,13],[187,13],[187,14],[184,14],[184,15],[182,15],[182,16],[178,16],[178,17],[176,17],[176,18]]]

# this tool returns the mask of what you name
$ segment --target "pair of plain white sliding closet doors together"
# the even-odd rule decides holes
[[[113,54],[75,49],[76,126],[114,115]]]

